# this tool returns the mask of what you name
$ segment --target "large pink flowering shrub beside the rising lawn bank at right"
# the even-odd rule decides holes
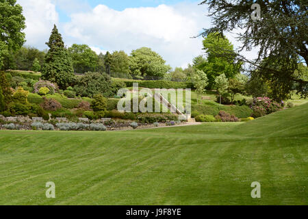
[[[253,110],[252,116],[255,118],[265,116],[267,114],[271,114],[283,109],[283,105],[281,103],[272,101],[272,99],[269,99],[268,97],[257,97],[247,102],[251,107],[251,110]]]

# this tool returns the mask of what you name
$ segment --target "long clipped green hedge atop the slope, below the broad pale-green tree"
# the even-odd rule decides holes
[[[177,82],[177,81],[141,81],[141,80],[130,80],[130,79],[112,79],[114,81],[123,81],[126,86],[132,87],[133,83],[138,83],[139,87],[142,88],[166,88],[166,89],[178,89],[178,88],[194,88],[193,83]]]

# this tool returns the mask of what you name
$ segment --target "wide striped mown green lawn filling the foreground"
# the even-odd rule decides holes
[[[308,205],[307,124],[308,104],[248,123],[0,131],[0,205]]]

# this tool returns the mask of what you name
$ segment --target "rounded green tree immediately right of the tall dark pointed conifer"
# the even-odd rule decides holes
[[[84,74],[97,70],[99,57],[88,45],[73,44],[68,48],[68,53],[73,59],[75,73]]]

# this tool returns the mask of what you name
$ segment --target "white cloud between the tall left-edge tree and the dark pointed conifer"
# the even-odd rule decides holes
[[[48,41],[53,24],[58,23],[55,5],[50,0],[18,0],[17,3],[23,6],[23,15],[26,18],[25,44],[38,49],[46,48],[44,42]]]

